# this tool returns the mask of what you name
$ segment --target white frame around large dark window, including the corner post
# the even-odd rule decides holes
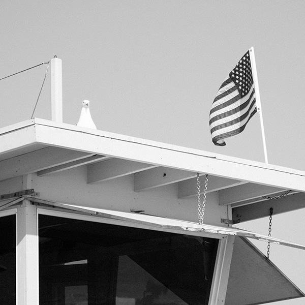
[[[174,228],[153,227],[148,224],[85,215],[80,211],[43,205],[24,199],[18,206],[0,211],[0,217],[16,215],[16,304],[39,305],[39,235],[38,217],[47,215],[90,222],[107,223],[134,228],[164,231],[175,234],[202,236],[218,239],[208,305],[223,304],[229,277],[229,266],[233,252],[234,235],[198,231],[177,231]]]

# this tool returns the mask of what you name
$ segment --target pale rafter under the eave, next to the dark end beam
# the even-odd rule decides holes
[[[219,204],[233,204],[244,200],[261,199],[263,196],[269,196],[279,192],[285,193],[285,191],[277,187],[248,183],[219,191]]]

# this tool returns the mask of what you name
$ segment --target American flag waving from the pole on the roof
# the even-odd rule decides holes
[[[222,83],[212,104],[209,125],[213,143],[226,145],[224,139],[241,133],[256,112],[248,51]]]

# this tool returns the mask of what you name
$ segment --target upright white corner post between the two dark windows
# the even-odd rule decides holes
[[[16,257],[17,305],[39,304],[37,210],[27,200],[17,209]]]

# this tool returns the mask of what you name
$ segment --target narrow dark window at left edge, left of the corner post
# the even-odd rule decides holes
[[[16,304],[16,216],[0,217],[0,304]]]

